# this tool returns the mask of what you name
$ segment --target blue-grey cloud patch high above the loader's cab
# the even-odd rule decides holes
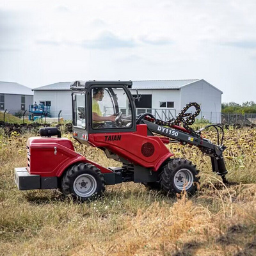
[[[81,43],[81,46],[90,49],[108,50],[116,48],[131,48],[136,46],[136,44],[133,40],[124,40],[122,38],[118,38],[118,36],[115,36],[110,32],[105,32],[94,40],[84,40]]]

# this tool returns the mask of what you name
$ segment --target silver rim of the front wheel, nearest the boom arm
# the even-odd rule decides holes
[[[188,169],[180,169],[174,176],[174,184],[180,190],[188,190],[193,185],[193,182],[193,173]]]

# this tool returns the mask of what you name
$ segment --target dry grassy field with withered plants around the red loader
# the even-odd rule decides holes
[[[197,148],[171,145],[200,170],[195,196],[170,198],[127,183],[107,186],[87,204],[59,191],[18,191],[13,168],[26,166],[32,135],[0,135],[0,255],[256,255],[256,129],[226,131],[232,185],[221,183]],[[214,132],[205,136],[214,140]],[[103,166],[117,164],[97,148],[74,145]]]

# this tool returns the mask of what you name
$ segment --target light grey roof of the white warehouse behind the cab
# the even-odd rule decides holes
[[[195,83],[201,80],[205,81],[203,79],[132,81],[131,90],[136,90],[136,89],[137,90],[163,90],[163,89],[178,90],[183,86],[187,86],[188,84]],[[34,88],[33,90],[34,91],[70,90],[70,85],[73,83],[74,82],[59,82],[59,83],[54,83],[54,84],[49,84],[49,85],[41,86],[38,88]],[[207,82],[205,81],[205,83]],[[212,84],[209,84],[209,85],[212,86]],[[220,91],[218,88],[214,86],[212,87]]]

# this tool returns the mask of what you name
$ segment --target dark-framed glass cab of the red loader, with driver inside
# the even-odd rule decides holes
[[[131,86],[131,81],[76,81],[72,84],[74,138],[85,143],[90,134],[136,131]]]

